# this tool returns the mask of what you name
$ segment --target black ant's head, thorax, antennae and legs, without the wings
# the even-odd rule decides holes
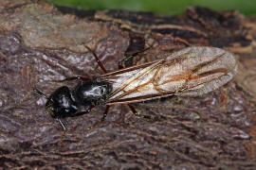
[[[93,54],[94,58],[101,67],[101,70],[104,74],[106,74],[107,71],[95,52],[92,51],[89,47],[85,47]],[[108,98],[108,95],[112,92],[113,89],[110,82],[101,80],[99,77],[90,79],[83,76],[71,76],[65,78],[64,80],[57,80],[57,82],[76,79],[80,79],[81,81],[77,84],[73,91],[70,91],[67,86],[62,86],[55,92],[51,93],[49,96],[46,96],[45,93],[41,92],[37,88],[33,89],[35,93],[39,93],[47,99],[47,112],[60,122],[61,126],[64,128],[64,131],[66,128],[64,127],[61,118],[80,116],[82,114],[89,113],[97,105],[105,105],[105,100]],[[132,112],[138,116],[135,108],[130,104],[127,105],[130,110],[132,110]],[[79,107],[85,107],[87,110],[78,112]],[[109,108],[110,106],[106,105],[106,109],[101,118],[101,122],[103,122],[107,116]]]

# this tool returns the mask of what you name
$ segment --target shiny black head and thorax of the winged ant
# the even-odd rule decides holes
[[[112,85],[101,80],[80,81],[71,92],[62,86],[46,102],[46,110],[54,118],[74,117],[89,112],[90,108],[103,105],[112,92]],[[79,107],[87,111],[78,112]]]

